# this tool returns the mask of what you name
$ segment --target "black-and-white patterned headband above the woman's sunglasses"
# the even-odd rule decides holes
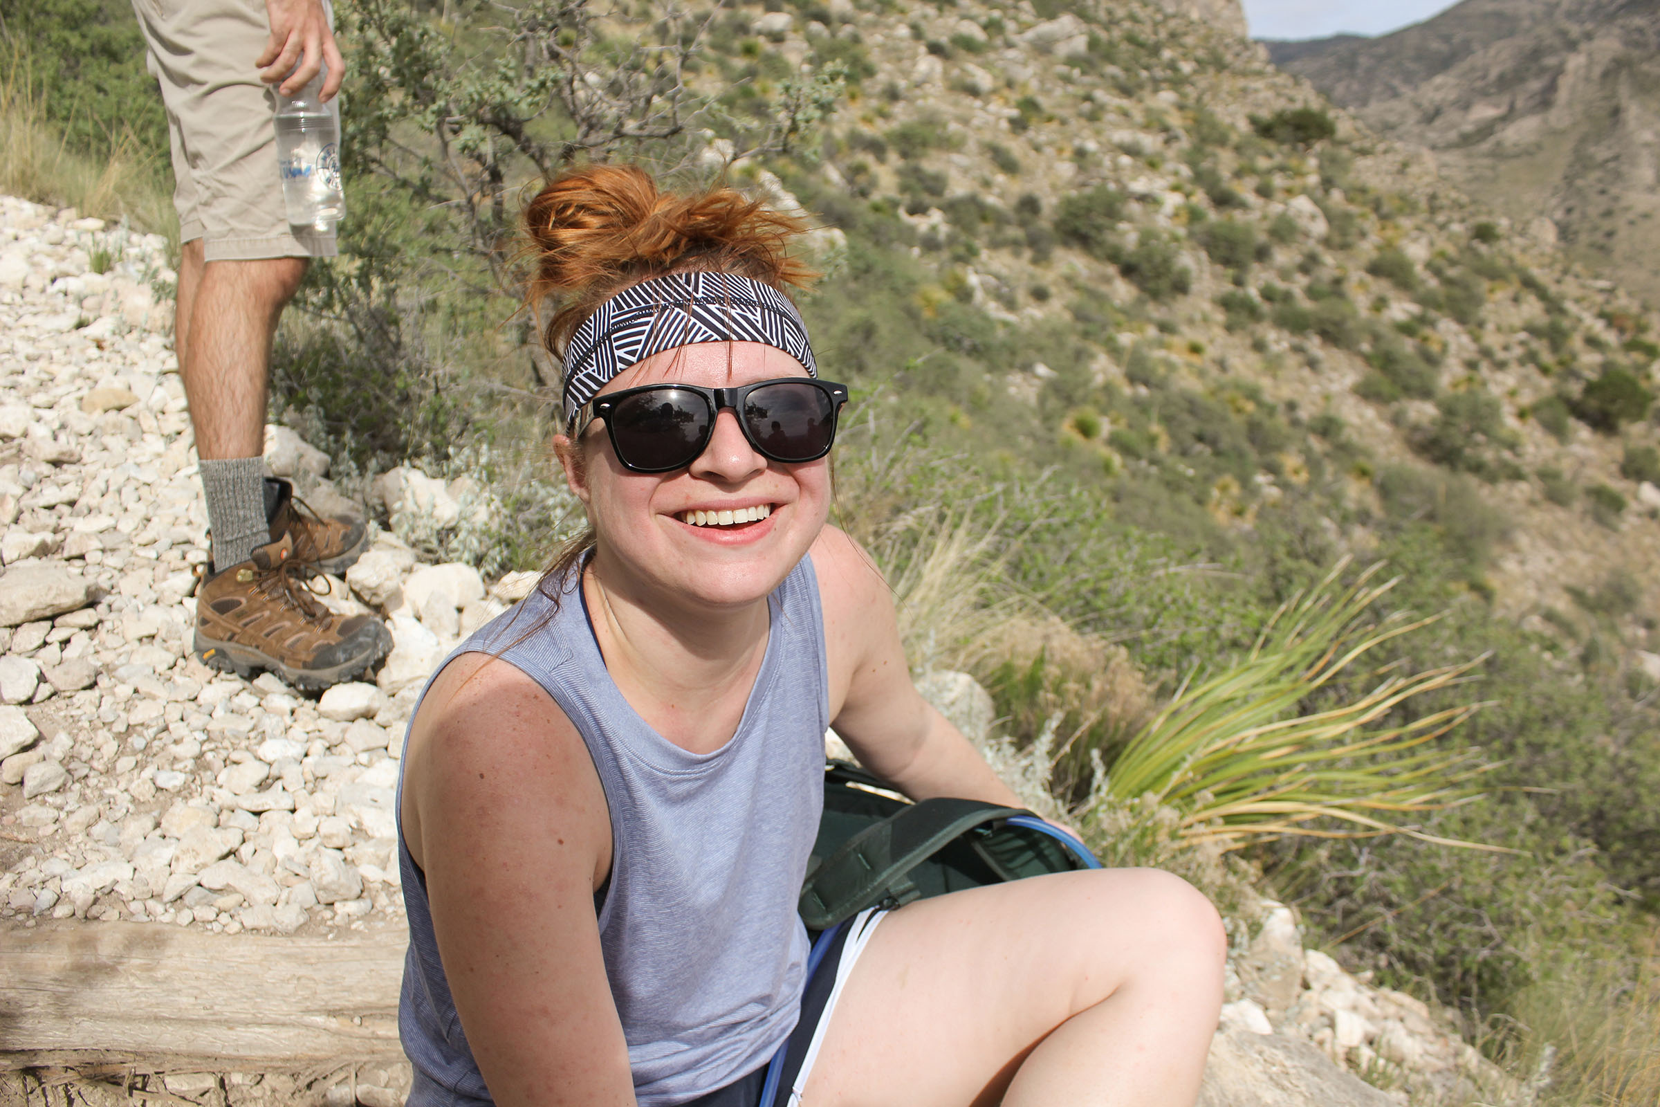
[[[807,324],[777,289],[730,272],[676,272],[622,289],[564,350],[564,423],[636,362],[697,342],[762,342],[818,375]]]

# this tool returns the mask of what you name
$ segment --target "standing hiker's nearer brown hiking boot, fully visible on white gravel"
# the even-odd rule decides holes
[[[269,669],[297,689],[350,680],[392,649],[374,616],[339,616],[307,581],[317,576],[294,556],[294,538],[254,549],[249,561],[214,573],[196,591],[196,652],[241,677]]]

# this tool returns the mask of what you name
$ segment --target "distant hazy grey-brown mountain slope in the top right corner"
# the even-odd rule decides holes
[[[1575,261],[1655,299],[1660,13],[1622,0],[1466,0],[1381,38],[1268,43],[1378,133],[1436,153]]]

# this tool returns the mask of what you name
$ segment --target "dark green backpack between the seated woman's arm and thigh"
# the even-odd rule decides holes
[[[810,931],[865,908],[1023,876],[1101,868],[1077,838],[1018,807],[910,803],[847,762],[825,765],[825,810],[798,911]]]

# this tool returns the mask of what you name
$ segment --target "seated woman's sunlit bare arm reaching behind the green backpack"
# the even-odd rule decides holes
[[[954,795],[1021,807],[986,758],[921,697],[893,594],[858,543],[827,526],[813,544],[830,656],[832,725],[858,760],[913,800]]]

